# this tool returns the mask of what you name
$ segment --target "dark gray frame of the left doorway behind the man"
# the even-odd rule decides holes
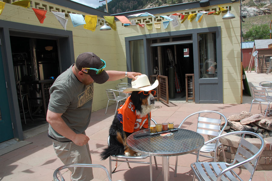
[[[14,127],[14,137],[23,140],[23,131],[17,100],[15,76],[13,70],[10,36],[57,40],[59,48],[60,71],[65,71],[75,62],[73,48],[73,32],[42,26],[27,25],[11,21],[0,20],[1,50],[7,82],[11,121]]]

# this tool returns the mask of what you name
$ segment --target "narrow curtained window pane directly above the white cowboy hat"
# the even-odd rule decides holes
[[[130,41],[131,71],[145,74],[144,40]]]

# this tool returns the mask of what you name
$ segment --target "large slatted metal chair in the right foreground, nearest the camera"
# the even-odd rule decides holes
[[[212,141],[219,142],[219,139],[222,137],[227,137],[232,134],[242,134],[239,141],[239,146],[235,154],[234,160],[232,163],[226,162],[195,162],[191,164],[191,169],[193,170],[194,177],[201,181],[220,181],[220,180],[243,180],[237,173],[235,173],[235,168],[244,166],[250,173],[250,178],[248,181],[252,180],[254,171],[257,167],[257,163],[260,159],[261,153],[264,150],[264,139],[257,133],[250,131],[234,131],[222,134],[218,137],[215,137],[209,140],[209,143]],[[257,148],[252,143],[249,143],[245,140],[245,134],[251,134],[257,137],[261,141],[260,148]],[[226,178],[227,177],[227,178]]]

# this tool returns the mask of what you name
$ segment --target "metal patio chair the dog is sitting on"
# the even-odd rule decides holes
[[[157,124],[157,122],[151,118],[151,121],[154,123],[154,124]],[[110,145],[109,143],[109,140],[110,140],[110,137],[108,136],[108,145]],[[142,161],[133,161],[133,160],[142,160],[142,159],[145,159],[145,158],[148,158],[149,157],[149,162],[142,162]],[[118,160],[119,159],[122,159],[122,160]],[[129,159],[129,160],[128,160]],[[116,161],[115,163],[115,167],[112,169],[112,162]],[[125,156],[125,155],[112,155],[109,157],[109,170],[112,170],[111,173],[110,173],[110,177],[112,178],[112,173],[115,172],[116,168],[117,168],[117,165],[118,165],[118,162],[126,162],[128,164],[128,168],[131,169],[129,163],[144,163],[144,164],[149,164],[149,169],[150,169],[150,181],[152,181],[152,156],[150,155],[145,155],[145,154],[142,154],[141,156]],[[154,156],[154,162],[155,162],[155,166],[156,166],[156,169],[158,169],[158,166],[157,166],[157,161],[156,161],[156,157]]]

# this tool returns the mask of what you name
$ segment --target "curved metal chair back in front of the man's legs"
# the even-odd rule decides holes
[[[110,177],[110,174],[108,173],[108,170],[107,170],[107,168],[105,166],[103,166],[103,165],[95,165],[95,164],[82,164],[82,163],[69,164],[69,165],[60,166],[53,173],[53,179],[54,179],[54,181],[64,181],[64,178],[63,178],[62,174],[60,173],[60,170],[66,169],[66,168],[70,168],[70,167],[96,167],[96,168],[102,168],[102,169],[105,170],[105,172],[107,174],[107,177],[108,177],[108,180],[112,181],[112,178]],[[58,179],[58,174],[59,174],[61,180]]]

